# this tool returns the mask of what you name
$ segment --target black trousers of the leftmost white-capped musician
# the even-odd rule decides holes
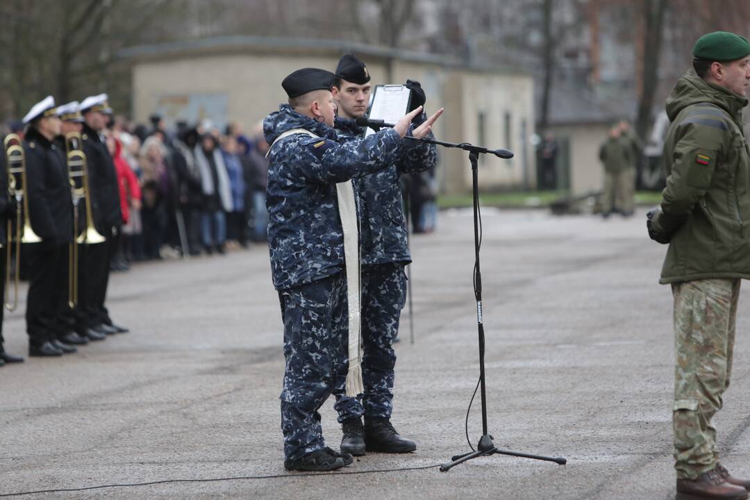
[[[27,245],[30,275],[26,332],[31,345],[40,346],[56,336],[60,304],[68,290],[67,246],[46,241]]]

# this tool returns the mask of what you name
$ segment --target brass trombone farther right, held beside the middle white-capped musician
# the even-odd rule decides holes
[[[94,227],[86,154],[81,151],[81,144],[80,133],[71,132],[65,135],[68,179],[71,182],[71,195],[73,197],[73,241],[68,251],[68,306],[71,309],[78,304],[78,245],[104,243],[105,241],[104,236],[99,234]],[[86,204],[86,229],[78,235],[79,203],[81,199]]]

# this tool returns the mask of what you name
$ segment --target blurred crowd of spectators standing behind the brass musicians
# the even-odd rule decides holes
[[[150,127],[115,116],[105,135],[124,223],[113,270],[266,241],[269,146],[260,123],[248,133],[208,121],[167,130],[158,115]]]

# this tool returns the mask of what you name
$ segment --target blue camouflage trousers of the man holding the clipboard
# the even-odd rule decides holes
[[[401,310],[407,300],[407,276],[404,264],[394,262],[362,268],[362,379],[365,394],[347,397],[346,376],[349,361],[334,390],[338,421],[347,418],[391,418],[396,353],[393,342],[398,336]],[[348,345],[348,338],[344,339]]]

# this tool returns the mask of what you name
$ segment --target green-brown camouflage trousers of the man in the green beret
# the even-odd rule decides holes
[[[674,296],[674,467],[695,479],[718,461],[712,417],[729,387],[739,280],[672,285]]]

